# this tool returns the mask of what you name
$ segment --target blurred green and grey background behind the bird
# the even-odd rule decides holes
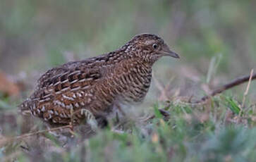
[[[34,84],[49,68],[104,54],[150,32],[181,55],[179,61],[158,61],[155,77],[163,85],[174,77],[171,87],[196,95],[203,83],[214,87],[256,70],[255,7],[250,0],[1,0],[0,70],[25,72]],[[156,89],[153,84],[150,96],[159,94]]]

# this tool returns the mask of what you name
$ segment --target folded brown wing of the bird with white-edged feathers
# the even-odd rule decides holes
[[[20,107],[28,107],[34,116],[44,120],[68,123],[71,109],[76,111],[90,104],[95,93],[93,87],[102,77],[100,68],[76,64],[64,64],[44,73],[34,94]]]

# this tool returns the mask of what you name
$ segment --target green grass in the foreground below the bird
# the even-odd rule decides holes
[[[256,106],[247,102],[240,113],[238,103],[226,95],[214,97],[205,105],[171,102],[169,119],[161,116],[158,111],[161,104],[158,104],[150,111],[156,118],[147,122],[128,120],[118,131],[112,129],[114,124],[110,122],[105,129],[97,130],[97,135],[66,149],[52,135],[24,138],[2,146],[0,158],[9,161],[254,161]],[[44,145],[30,145],[30,140],[42,140]],[[21,147],[28,147],[28,153]]]

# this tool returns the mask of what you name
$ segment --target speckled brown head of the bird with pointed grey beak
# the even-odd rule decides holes
[[[133,54],[149,63],[154,63],[162,56],[180,58],[178,54],[171,51],[169,46],[164,43],[164,40],[157,35],[136,35],[133,37],[133,39],[130,40],[130,42],[128,42],[128,44],[128,49],[131,50]]]

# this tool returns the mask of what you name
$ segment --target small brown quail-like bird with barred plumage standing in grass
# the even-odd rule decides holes
[[[106,116],[118,104],[145,98],[152,66],[161,56],[179,58],[157,35],[136,35],[116,51],[48,70],[20,110],[50,125],[68,125],[71,119],[80,124],[85,111]]]

